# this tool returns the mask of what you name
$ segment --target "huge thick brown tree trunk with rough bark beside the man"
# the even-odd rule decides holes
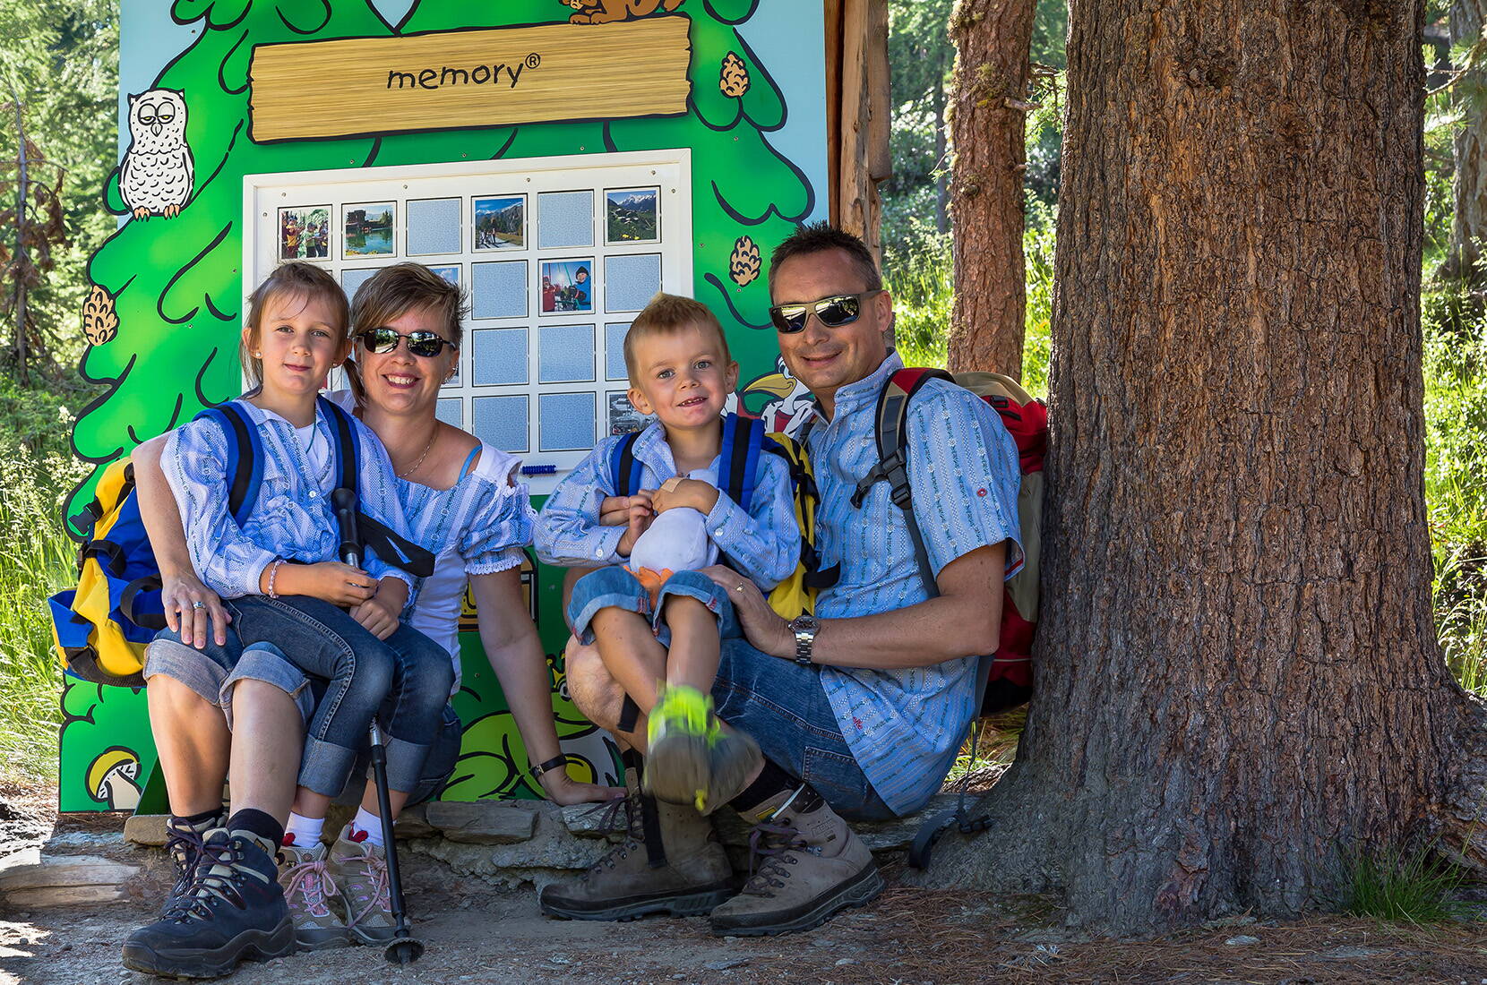
[[[1325,906],[1422,833],[1481,860],[1422,481],[1422,13],[1071,4],[1036,691],[999,833],[937,880],[1149,933]]]

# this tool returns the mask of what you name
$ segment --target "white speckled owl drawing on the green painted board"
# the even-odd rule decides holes
[[[186,146],[186,100],[175,89],[129,97],[129,150],[119,168],[119,195],[135,218],[180,214],[196,168]]]

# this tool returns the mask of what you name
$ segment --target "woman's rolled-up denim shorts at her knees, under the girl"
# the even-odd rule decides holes
[[[253,643],[244,649],[230,625],[225,645],[219,646],[216,639],[210,639],[201,649],[183,643],[175,630],[161,630],[144,648],[144,680],[149,682],[156,674],[180,680],[204,701],[222,709],[228,716],[228,728],[232,728],[233,685],[239,680],[274,685],[294,700],[305,722],[315,710],[309,680],[300,669],[274,643]]]

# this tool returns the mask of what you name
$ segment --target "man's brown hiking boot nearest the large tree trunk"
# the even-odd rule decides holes
[[[748,820],[754,875],[712,911],[712,933],[809,930],[882,891],[873,853],[809,786],[770,798]]]

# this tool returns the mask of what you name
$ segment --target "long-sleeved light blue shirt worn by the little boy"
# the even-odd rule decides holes
[[[537,518],[537,556],[547,565],[577,566],[623,565],[620,538],[623,526],[601,526],[599,504],[614,493],[610,453],[623,440],[610,437],[564,477],[543,505]],[[721,456],[720,456],[721,458]],[[635,440],[635,461],[641,464],[641,487],[659,489],[677,474],[677,462],[666,444],[660,422],[647,426]],[[758,484],[748,513],[727,493],[708,513],[708,536],[718,545],[739,573],[769,591],[796,570],[800,560],[800,527],[790,471],[776,455],[760,455]],[[718,474],[718,459],[709,467]]]

